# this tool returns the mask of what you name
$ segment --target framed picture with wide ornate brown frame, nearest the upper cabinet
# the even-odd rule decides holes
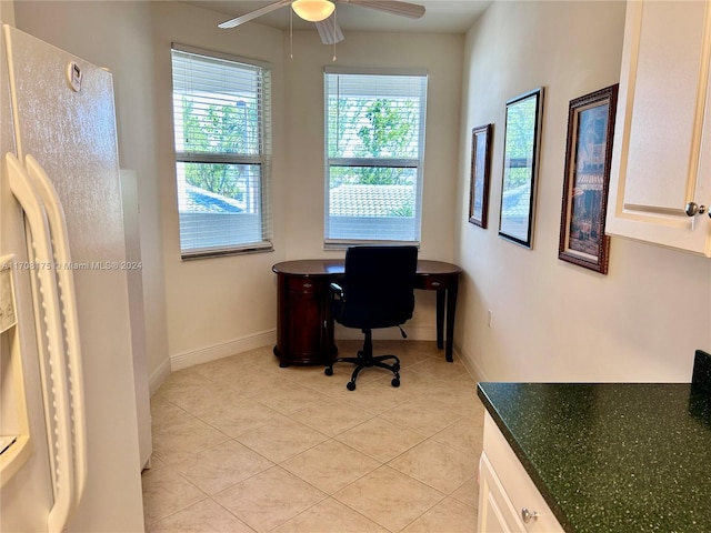
[[[608,273],[604,232],[618,84],[570,101],[558,259]]]

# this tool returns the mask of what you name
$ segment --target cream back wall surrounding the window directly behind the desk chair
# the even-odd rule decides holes
[[[333,47],[316,32],[294,32],[293,59],[286,60],[288,91],[286,258],[342,258],[323,250],[323,68],[332,63]],[[284,53],[290,50],[284,34]],[[457,187],[463,36],[367,33],[347,31],[336,48],[344,67],[425,68],[428,70],[427,140],[422,200],[421,259],[451,261],[452,215]],[[415,311],[405,326],[408,338],[433,340],[434,293],[417,291]],[[337,325],[338,339],[360,339],[358,330]],[[379,330],[375,339],[399,339],[397,329]]]

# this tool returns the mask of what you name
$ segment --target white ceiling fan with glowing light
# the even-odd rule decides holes
[[[334,44],[343,40],[343,32],[336,22],[336,3],[350,3],[363,8],[375,9],[391,14],[419,19],[424,14],[424,7],[395,0],[277,0],[249,13],[227,20],[218,28],[228,29],[254,20],[284,6],[291,6],[293,12],[303,20],[316,22],[319,36],[324,44]]]

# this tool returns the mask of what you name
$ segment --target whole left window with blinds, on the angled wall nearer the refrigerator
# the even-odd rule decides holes
[[[271,250],[270,68],[172,46],[183,259]]]

